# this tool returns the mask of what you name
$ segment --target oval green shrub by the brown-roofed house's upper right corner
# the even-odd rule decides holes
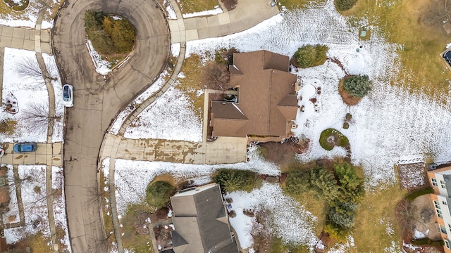
[[[314,67],[326,62],[328,50],[328,46],[320,44],[302,46],[297,49],[293,58],[295,58],[298,67]]]

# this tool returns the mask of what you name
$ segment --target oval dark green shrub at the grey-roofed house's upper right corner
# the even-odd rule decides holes
[[[221,169],[214,176],[214,182],[229,193],[237,190],[245,190],[250,193],[254,188],[261,186],[262,180],[252,171]]]

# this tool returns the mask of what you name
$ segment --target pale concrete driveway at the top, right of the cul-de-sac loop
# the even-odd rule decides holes
[[[240,0],[237,8],[218,15],[182,18],[180,8],[171,0],[177,20],[168,20],[172,43],[221,37],[247,30],[279,13],[277,6],[266,0]]]

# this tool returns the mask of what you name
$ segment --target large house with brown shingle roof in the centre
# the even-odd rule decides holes
[[[285,138],[297,114],[290,59],[270,51],[234,53],[229,66],[236,102],[212,101],[213,136]]]

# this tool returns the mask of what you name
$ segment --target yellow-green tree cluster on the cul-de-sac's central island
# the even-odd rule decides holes
[[[92,46],[103,56],[129,53],[135,46],[135,27],[125,18],[88,10],[85,30]]]

